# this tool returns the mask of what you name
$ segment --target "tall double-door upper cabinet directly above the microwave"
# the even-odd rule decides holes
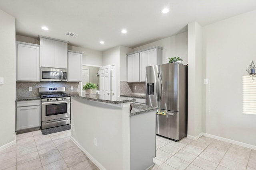
[[[41,67],[68,68],[68,41],[39,37]]]

